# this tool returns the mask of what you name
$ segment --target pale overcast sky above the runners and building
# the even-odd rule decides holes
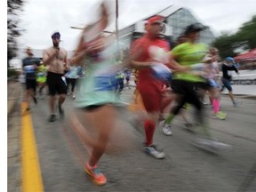
[[[76,47],[80,30],[71,26],[84,26],[96,20],[95,4],[101,0],[28,0],[20,14],[20,47],[44,49],[52,45],[52,32],[59,30],[61,46],[68,51]],[[115,3],[115,0],[108,0]],[[119,28],[176,4],[187,8],[218,36],[221,31],[236,32],[237,28],[256,15],[255,0],[119,0]],[[94,5],[94,6],[93,6]],[[115,4],[110,12],[115,15]],[[115,20],[113,20],[113,23]]]

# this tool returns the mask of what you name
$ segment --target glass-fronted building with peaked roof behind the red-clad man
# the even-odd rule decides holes
[[[165,18],[163,37],[170,42],[171,47],[175,45],[176,39],[182,34],[184,28],[193,23],[200,23],[186,8],[176,5],[170,5],[161,12],[156,12],[156,14]],[[144,20],[139,20],[118,31],[119,40],[121,44],[123,44],[124,49],[129,49],[132,41],[145,33],[144,24],[146,20],[156,14],[150,15]],[[201,25],[204,26],[203,24]],[[215,36],[213,36],[209,27],[204,27],[206,27],[206,29],[200,33],[199,41],[210,45]]]

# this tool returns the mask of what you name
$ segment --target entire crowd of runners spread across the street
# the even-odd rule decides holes
[[[165,135],[172,135],[172,121],[178,114],[186,120],[189,130],[196,133],[196,144],[218,147],[205,120],[203,101],[209,95],[212,116],[225,119],[227,114],[220,111],[222,82],[223,88],[228,89],[232,104],[235,107],[241,104],[232,94],[231,76],[228,75],[229,70],[238,73],[235,60],[228,57],[220,66],[218,49],[198,43],[200,32],[204,30],[198,24],[188,25],[177,39],[177,45],[171,47],[161,37],[164,18],[156,15],[147,20],[146,33],[132,42],[128,58],[119,63],[115,57],[113,59],[111,52],[115,50],[113,38],[103,34],[108,23],[108,9],[103,3],[100,5],[100,19],[84,27],[76,51],[70,59],[67,51],[60,47],[60,32],[52,34],[52,46],[44,50],[41,62],[33,57],[30,48],[27,49],[28,57],[22,61],[26,76],[27,110],[30,110],[30,98],[37,103],[36,84],[40,97],[43,97],[47,85],[50,111],[48,121],[56,121],[56,107],[60,117],[64,118],[63,105],[71,85],[74,113],[69,121],[76,132],[83,136],[84,143],[92,148],[84,169],[98,185],[107,182],[98,164],[116,124],[115,105],[120,100],[119,95],[124,86],[131,89],[132,73],[136,77],[134,100],[136,104],[140,100],[140,109],[145,112],[142,119],[145,153],[156,159],[164,158],[164,151],[157,148],[154,141],[156,127],[162,127]],[[86,68],[85,76],[81,72],[83,66]],[[80,78],[81,74],[83,78]],[[80,80],[75,94],[77,78]],[[190,105],[196,108],[196,124],[190,123],[186,117],[186,108],[190,108]],[[97,131],[96,139],[86,135],[84,124],[77,114]]]

